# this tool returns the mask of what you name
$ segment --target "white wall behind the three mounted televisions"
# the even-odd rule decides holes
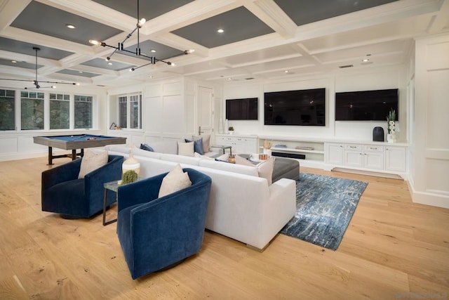
[[[382,126],[387,133],[385,122],[335,122],[335,93],[341,91],[366,91],[376,89],[399,89],[398,141],[407,142],[407,98],[403,82],[403,67],[370,67],[368,70],[344,70],[322,77],[291,77],[274,82],[237,82],[225,84],[223,98],[259,98],[259,119],[257,121],[229,121],[236,133],[251,133],[262,136],[300,136],[324,139],[347,139],[372,141],[373,128]],[[326,88],[326,126],[265,126],[264,92],[289,91],[297,89]],[[225,101],[222,103],[225,118]],[[385,116],[387,117],[387,116]]]

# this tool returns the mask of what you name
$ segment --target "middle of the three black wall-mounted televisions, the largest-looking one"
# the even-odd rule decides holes
[[[265,125],[326,126],[326,89],[264,93]]]

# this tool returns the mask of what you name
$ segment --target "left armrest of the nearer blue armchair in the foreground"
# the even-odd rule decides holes
[[[157,199],[164,176],[166,173],[119,186],[117,191],[118,211]]]

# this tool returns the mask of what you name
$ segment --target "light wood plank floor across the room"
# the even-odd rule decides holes
[[[0,162],[0,299],[447,299],[449,294],[449,210],[413,204],[404,181],[302,168],[369,182],[337,251],[277,235],[260,253],[206,231],[199,254],[132,280],[116,223],[102,226],[101,215],[65,220],[41,211],[45,169],[46,157]]]

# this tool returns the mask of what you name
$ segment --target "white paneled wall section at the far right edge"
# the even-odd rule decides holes
[[[449,208],[449,34],[418,39],[415,47],[413,202]]]

